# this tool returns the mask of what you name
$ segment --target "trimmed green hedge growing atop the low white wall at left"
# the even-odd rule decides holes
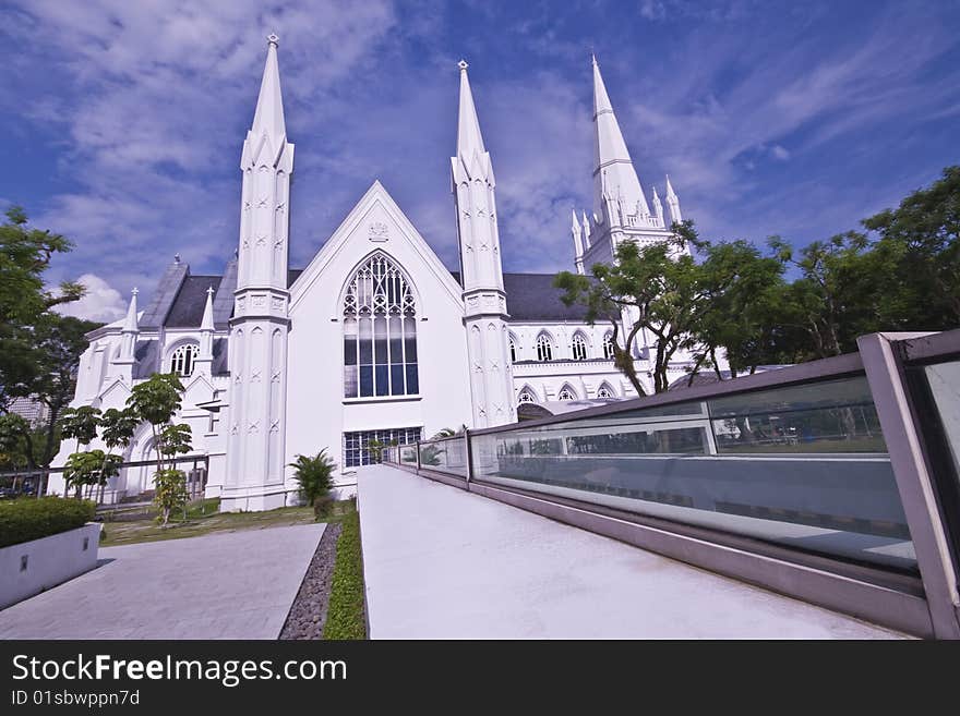
[[[97,506],[89,500],[62,497],[3,500],[0,502],[0,547],[82,527],[94,519],[96,510]]]

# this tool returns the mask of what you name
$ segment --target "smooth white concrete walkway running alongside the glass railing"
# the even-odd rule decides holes
[[[902,638],[394,468],[359,506],[373,639]]]

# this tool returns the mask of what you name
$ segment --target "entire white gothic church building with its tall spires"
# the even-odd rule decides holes
[[[493,161],[467,64],[459,66],[456,270],[375,180],[313,259],[289,267],[293,145],[272,35],[240,157],[236,256],[219,276],[192,274],[178,256],[143,310],[134,290],[125,319],[88,335],[72,404],[120,409],[151,374],[178,373],[178,421],[208,461],[206,495],[220,497],[221,510],[264,510],[297,501],[287,465],[298,454],[327,448],[344,475],[371,462],[371,440],[511,423],[525,402],[636,397],[613,365],[609,325],[590,326],[581,308],[564,305],[553,275],[503,271]],[[682,218],[669,180],[667,213],[656,190],[648,203],[596,60],[593,132],[592,213],[574,213],[572,224],[579,272],[611,262],[621,242],[662,241]],[[641,333],[632,350],[652,392],[650,342]],[[671,377],[689,365],[680,355]],[[65,440],[53,464],[76,449]],[[124,460],[149,460],[151,450],[143,426]],[[109,498],[151,490],[152,475],[149,466],[125,469]],[[63,493],[56,473],[49,490]]]

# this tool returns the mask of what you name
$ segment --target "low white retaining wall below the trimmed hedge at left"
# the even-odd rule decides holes
[[[97,565],[100,524],[0,549],[0,609],[92,570]]]

